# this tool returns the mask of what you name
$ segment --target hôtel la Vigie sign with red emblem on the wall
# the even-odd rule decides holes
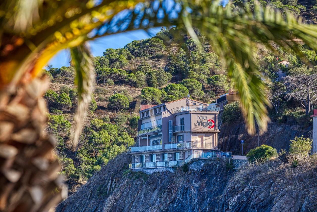
[[[215,115],[191,115],[192,130],[215,130]]]

